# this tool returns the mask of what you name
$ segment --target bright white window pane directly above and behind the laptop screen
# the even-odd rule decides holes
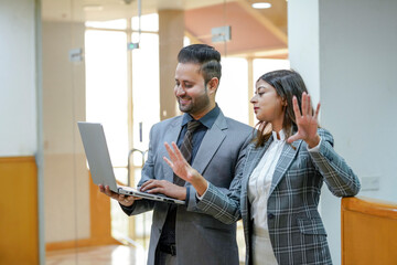
[[[88,30],[85,36],[86,119],[103,123],[112,166],[127,167],[127,34]]]

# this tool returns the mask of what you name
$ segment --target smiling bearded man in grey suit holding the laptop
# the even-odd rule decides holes
[[[153,210],[148,264],[237,265],[236,224],[224,224],[196,209],[194,188],[174,176],[163,160],[164,142],[174,141],[190,149],[184,156],[193,168],[229,193],[253,128],[226,118],[215,102],[222,70],[221,54],[215,49],[193,44],[180,51],[178,61],[174,93],[184,114],[151,128],[148,160],[139,184],[142,191],[160,192],[185,200],[186,204],[137,200],[112,193],[108,187],[99,189],[118,200],[128,215]],[[191,123],[194,120],[200,123]],[[187,135],[192,135],[190,141],[185,141]]]

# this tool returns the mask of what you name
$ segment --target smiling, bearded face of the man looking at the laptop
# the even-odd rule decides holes
[[[196,119],[203,117],[212,108],[211,98],[204,86],[204,77],[200,73],[198,64],[178,64],[174,93],[180,110],[189,113]]]

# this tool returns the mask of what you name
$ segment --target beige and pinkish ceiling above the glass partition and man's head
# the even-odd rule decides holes
[[[287,1],[267,0],[270,9],[251,8],[255,0],[141,0],[141,14],[184,10],[185,32],[223,54],[246,57],[288,57]],[[50,21],[105,21],[138,15],[138,0],[42,0]],[[232,40],[213,43],[212,28],[230,25]],[[227,51],[227,52],[226,52]]]

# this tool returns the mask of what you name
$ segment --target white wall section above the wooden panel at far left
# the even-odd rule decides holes
[[[36,152],[34,1],[0,1],[0,157]]]

